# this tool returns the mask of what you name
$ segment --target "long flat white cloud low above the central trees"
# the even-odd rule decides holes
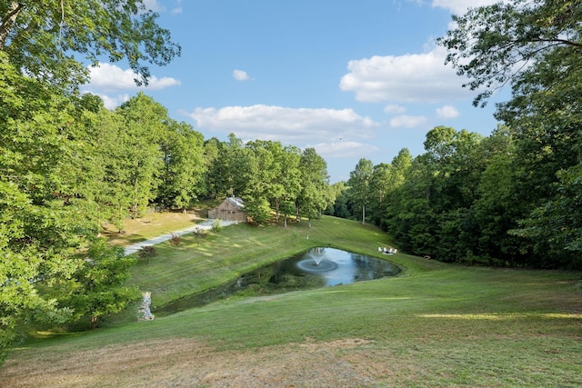
[[[379,125],[352,109],[287,108],[276,105],[197,107],[188,114],[196,128],[234,133],[243,140],[273,140],[283,144],[334,143],[373,137]]]

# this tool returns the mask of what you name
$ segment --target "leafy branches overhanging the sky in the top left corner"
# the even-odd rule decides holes
[[[64,88],[87,81],[92,65],[126,60],[147,85],[147,63],[166,65],[180,55],[157,14],[141,0],[8,0],[0,5],[0,50],[15,68]]]

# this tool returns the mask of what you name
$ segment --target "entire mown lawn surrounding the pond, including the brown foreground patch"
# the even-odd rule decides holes
[[[239,224],[158,246],[131,283],[163,304],[310,246],[386,258],[377,247],[389,244],[331,217]],[[38,338],[0,386],[582,386],[580,273],[390,259],[404,274]]]

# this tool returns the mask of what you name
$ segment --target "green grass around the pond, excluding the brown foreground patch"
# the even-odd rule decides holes
[[[309,239],[307,239],[307,235]],[[132,282],[165,303],[308,246],[377,254],[374,227],[323,218],[287,229],[229,226],[135,267]],[[582,385],[580,274],[467,268],[396,254],[403,276],[251,300],[225,300],[148,323],[30,343],[0,370],[22,381],[25,365],[114,344],[195,339],[224,352],[289,343],[369,341],[344,350],[378,384],[398,386]],[[365,363],[361,363],[364,360]],[[367,365],[367,366],[366,366]],[[383,366],[382,366],[383,365]],[[166,368],[173,367],[168,363]],[[105,386],[120,381],[103,376]],[[2,385],[2,383],[0,383]],[[309,386],[309,385],[305,385]]]

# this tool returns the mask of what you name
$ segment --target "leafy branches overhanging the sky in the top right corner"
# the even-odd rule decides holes
[[[456,27],[437,42],[448,50],[447,63],[467,75],[465,86],[481,89],[474,104],[514,80],[516,69],[537,63],[559,47],[582,49],[579,0],[512,0],[470,8],[454,15]],[[482,89],[481,89],[482,90]]]

